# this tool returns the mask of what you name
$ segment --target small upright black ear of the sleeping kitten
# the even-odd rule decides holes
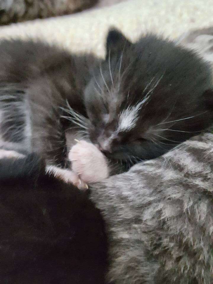
[[[131,42],[119,30],[113,28],[109,30],[106,38],[106,57],[109,53],[117,53],[130,45]]]

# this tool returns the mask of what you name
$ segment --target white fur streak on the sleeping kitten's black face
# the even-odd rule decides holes
[[[149,99],[149,96],[140,101],[135,106],[128,106],[127,109],[123,110],[119,115],[117,131],[130,130],[135,127],[138,120],[138,112],[142,105]]]

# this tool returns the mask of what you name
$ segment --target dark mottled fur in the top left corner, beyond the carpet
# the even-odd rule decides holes
[[[0,24],[71,14],[98,0],[1,0]]]

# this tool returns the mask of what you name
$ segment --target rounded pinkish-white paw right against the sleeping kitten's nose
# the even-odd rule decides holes
[[[72,170],[85,183],[95,183],[109,176],[107,160],[92,143],[79,141],[69,152]]]

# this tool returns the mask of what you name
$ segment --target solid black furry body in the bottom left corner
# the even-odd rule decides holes
[[[46,174],[37,155],[14,153],[0,149],[0,282],[103,284],[104,221],[88,193]]]

